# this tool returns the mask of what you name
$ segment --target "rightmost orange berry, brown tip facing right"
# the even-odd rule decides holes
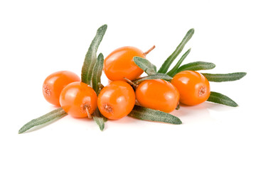
[[[198,105],[210,96],[208,79],[195,71],[179,72],[171,80],[180,93],[180,102],[188,106]]]

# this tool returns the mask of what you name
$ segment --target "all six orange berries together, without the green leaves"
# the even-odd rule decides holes
[[[145,108],[170,113],[179,102],[193,106],[208,99],[210,85],[206,77],[188,70],[178,72],[171,82],[144,80],[133,89],[126,80],[134,81],[143,73],[133,58],[145,58],[147,53],[136,47],[120,47],[111,52],[104,62],[105,75],[111,82],[98,96],[92,87],[80,82],[78,75],[68,71],[50,74],[43,83],[43,95],[75,118],[91,118],[98,107],[100,113],[111,120],[128,115],[136,101]]]

